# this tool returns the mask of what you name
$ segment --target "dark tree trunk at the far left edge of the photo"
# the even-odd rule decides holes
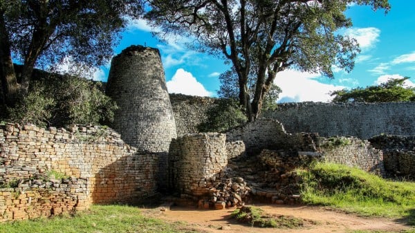
[[[0,14],[0,64],[3,101],[9,106],[12,106],[17,99],[19,86],[17,84],[15,68],[13,67],[8,30],[3,12]]]

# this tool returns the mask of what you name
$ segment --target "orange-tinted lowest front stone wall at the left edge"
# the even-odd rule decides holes
[[[48,217],[86,207],[86,180],[66,178],[15,180],[18,187],[0,189],[0,222]]]

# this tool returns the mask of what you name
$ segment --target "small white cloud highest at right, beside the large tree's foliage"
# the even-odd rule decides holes
[[[380,30],[378,28],[349,28],[344,34],[356,39],[362,50],[368,50],[379,41]]]

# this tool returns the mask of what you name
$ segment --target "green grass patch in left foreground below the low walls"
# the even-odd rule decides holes
[[[194,232],[180,229],[178,223],[147,218],[137,207],[93,205],[89,211],[75,216],[39,218],[33,221],[1,223],[0,233],[135,233],[135,232]]]

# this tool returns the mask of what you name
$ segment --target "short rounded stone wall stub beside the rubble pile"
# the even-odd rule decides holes
[[[184,196],[208,194],[207,183],[228,164],[225,140],[223,133],[199,133],[173,140],[169,151],[172,188]]]

